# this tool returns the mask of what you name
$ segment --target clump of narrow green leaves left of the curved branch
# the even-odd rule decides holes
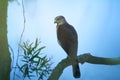
[[[31,77],[35,77],[33,74],[36,73],[38,80],[43,80],[52,71],[50,59],[41,53],[45,46],[39,48],[39,43],[36,39],[34,43],[26,41],[20,45],[23,50],[21,60],[23,65],[18,66],[18,68],[23,73],[24,78],[28,77],[31,80]]]

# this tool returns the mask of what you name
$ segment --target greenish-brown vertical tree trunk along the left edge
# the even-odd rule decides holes
[[[0,80],[10,80],[10,54],[7,41],[8,0],[0,1]]]

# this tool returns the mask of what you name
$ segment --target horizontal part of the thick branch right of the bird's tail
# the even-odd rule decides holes
[[[117,58],[103,58],[92,56],[89,53],[79,55],[78,60],[80,63],[91,63],[91,64],[104,64],[104,65],[118,65],[120,64],[120,57]]]

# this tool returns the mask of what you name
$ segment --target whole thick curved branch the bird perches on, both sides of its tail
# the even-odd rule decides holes
[[[103,65],[119,65],[120,64],[120,57],[118,58],[103,58],[103,57],[96,57],[92,56],[89,53],[85,53],[78,56],[79,63],[91,63],[91,64],[103,64]],[[58,80],[60,75],[62,74],[63,70],[70,66],[72,63],[71,61],[66,58],[63,59],[58,65],[54,68],[52,74],[48,78],[48,80]]]

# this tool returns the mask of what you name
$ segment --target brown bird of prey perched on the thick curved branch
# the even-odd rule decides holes
[[[78,35],[72,25],[70,25],[64,16],[60,15],[55,17],[54,23],[56,23],[57,39],[59,45],[67,53],[67,57],[71,59],[73,76],[74,78],[80,78],[80,68],[77,60],[78,49]]]

